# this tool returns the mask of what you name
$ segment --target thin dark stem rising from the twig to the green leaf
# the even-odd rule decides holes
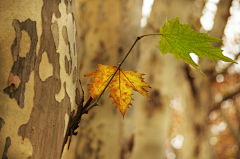
[[[116,75],[117,71],[120,69],[120,67],[122,66],[123,62],[126,60],[126,58],[128,57],[128,55],[130,54],[130,52],[132,51],[133,47],[135,46],[135,44],[138,42],[138,40],[140,40],[141,38],[145,37],[145,36],[151,36],[151,35],[161,35],[161,34],[145,34],[145,35],[141,35],[138,36],[137,39],[135,40],[135,42],[133,43],[132,47],[129,49],[127,55],[124,57],[124,59],[122,60],[121,63],[119,63],[117,69],[115,70],[115,72],[113,73],[112,77],[110,78],[110,80],[108,81],[108,83],[106,84],[106,86],[104,87],[104,89],[102,90],[102,92],[100,93],[100,95],[96,98],[96,100],[92,103],[92,105],[90,107],[88,107],[86,109],[86,112],[88,112],[91,108],[93,108],[94,106],[99,105],[97,102],[98,100],[101,98],[101,96],[103,95],[103,93],[105,92],[105,90],[107,89],[108,85],[111,83],[112,79],[114,78],[114,76]]]

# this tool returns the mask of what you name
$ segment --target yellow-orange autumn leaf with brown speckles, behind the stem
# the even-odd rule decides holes
[[[85,77],[94,77],[93,82],[88,84],[92,86],[90,88],[90,96],[93,97],[93,99],[97,98],[100,95],[112,77],[113,73],[117,69],[116,66],[112,65],[105,66],[98,64],[98,67],[99,68],[97,70],[84,75]],[[144,74],[137,73],[136,71],[125,71],[120,68],[111,83],[108,85],[108,88],[110,88],[109,98],[113,98],[113,103],[116,104],[116,108],[120,110],[123,117],[127,108],[129,108],[129,105],[132,105],[132,90],[137,91],[144,97],[148,98],[148,91],[143,87],[151,87],[143,81],[143,75]]]

